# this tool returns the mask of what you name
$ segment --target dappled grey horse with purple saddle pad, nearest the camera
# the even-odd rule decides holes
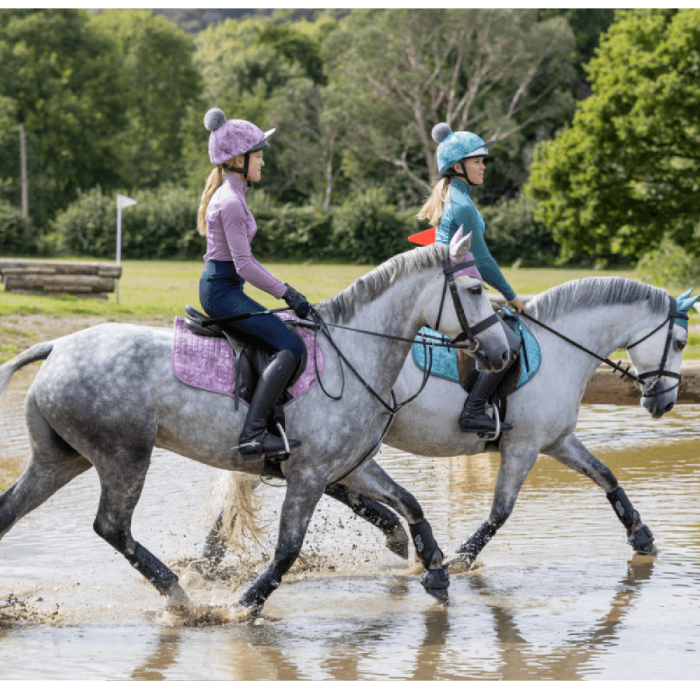
[[[456,301],[454,296],[444,300],[444,268],[468,254],[468,238],[454,243],[454,249],[435,244],[396,255],[336,297],[316,304],[316,312],[328,324],[410,339],[421,326],[435,323],[440,311],[440,330],[455,337],[463,323],[454,303],[461,302],[470,325],[486,321],[493,311],[482,283],[470,276],[455,280]],[[341,392],[340,355],[318,335],[327,358],[323,384],[342,398],[334,400],[317,385],[287,409],[288,429],[302,446],[283,463],[287,491],[274,558],[240,603],[259,609],[279,586],[297,559],[318,499],[335,482],[398,507],[426,568],[423,586],[445,599],[449,581],[442,552],[420,505],[369,461],[386,430],[391,390],[411,345],[332,326],[330,337],[346,358],[344,388]],[[472,349],[479,360],[493,371],[503,367],[508,345],[500,324],[479,332],[478,341]],[[0,496],[0,537],[94,466],[102,488],[94,530],[173,607],[185,608],[187,597],[176,575],[131,533],[153,447],[250,474],[262,473],[263,463],[244,463],[234,449],[244,407],[235,411],[232,398],[174,377],[172,342],[171,330],[105,324],[37,344],[0,367],[1,395],[16,370],[45,360],[25,404],[31,457],[20,479]]]

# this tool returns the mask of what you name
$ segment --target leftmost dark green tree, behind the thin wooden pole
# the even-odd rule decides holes
[[[65,207],[78,188],[118,183],[116,138],[126,124],[126,85],[114,43],[90,15],[0,10],[0,65],[6,127],[0,134],[0,181],[6,196],[19,202],[20,123],[27,132],[29,212],[35,223]]]

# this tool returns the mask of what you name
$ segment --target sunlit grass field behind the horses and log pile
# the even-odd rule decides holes
[[[368,265],[315,265],[266,263],[267,269],[283,281],[288,282],[306,295],[311,302],[335,295],[357,277],[365,274]],[[19,330],[17,316],[43,314],[45,316],[99,316],[106,321],[133,321],[159,319],[169,321],[182,316],[185,304],[199,308],[198,283],[202,262],[146,262],[132,260],[123,262],[123,276],[119,281],[119,303],[116,294],[107,300],[78,298],[70,295],[53,297],[48,295],[20,295],[0,292],[0,361],[14,356],[20,349],[31,344],[31,332]],[[504,268],[503,273],[510,285],[520,294],[535,294],[569,279],[584,276],[610,275],[636,279],[632,271],[594,272],[589,269]],[[267,308],[279,306],[279,301],[250,284],[246,291]],[[680,288],[669,288],[678,294]],[[6,321],[6,322],[3,322]],[[691,324],[698,323],[694,312]],[[691,342],[686,358],[700,358],[700,334],[691,333]],[[36,342],[36,341],[34,341]]]

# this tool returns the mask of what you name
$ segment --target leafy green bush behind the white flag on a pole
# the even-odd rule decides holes
[[[122,210],[122,255],[134,260],[195,258],[207,243],[197,233],[200,198],[185,188],[161,186],[131,195],[137,204]],[[100,188],[82,193],[57,216],[57,245],[76,255],[110,258],[116,251],[116,197]]]

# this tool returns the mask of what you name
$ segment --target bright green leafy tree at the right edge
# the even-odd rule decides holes
[[[563,259],[700,252],[700,10],[619,10],[589,64],[594,95],[543,144],[528,194]]]

